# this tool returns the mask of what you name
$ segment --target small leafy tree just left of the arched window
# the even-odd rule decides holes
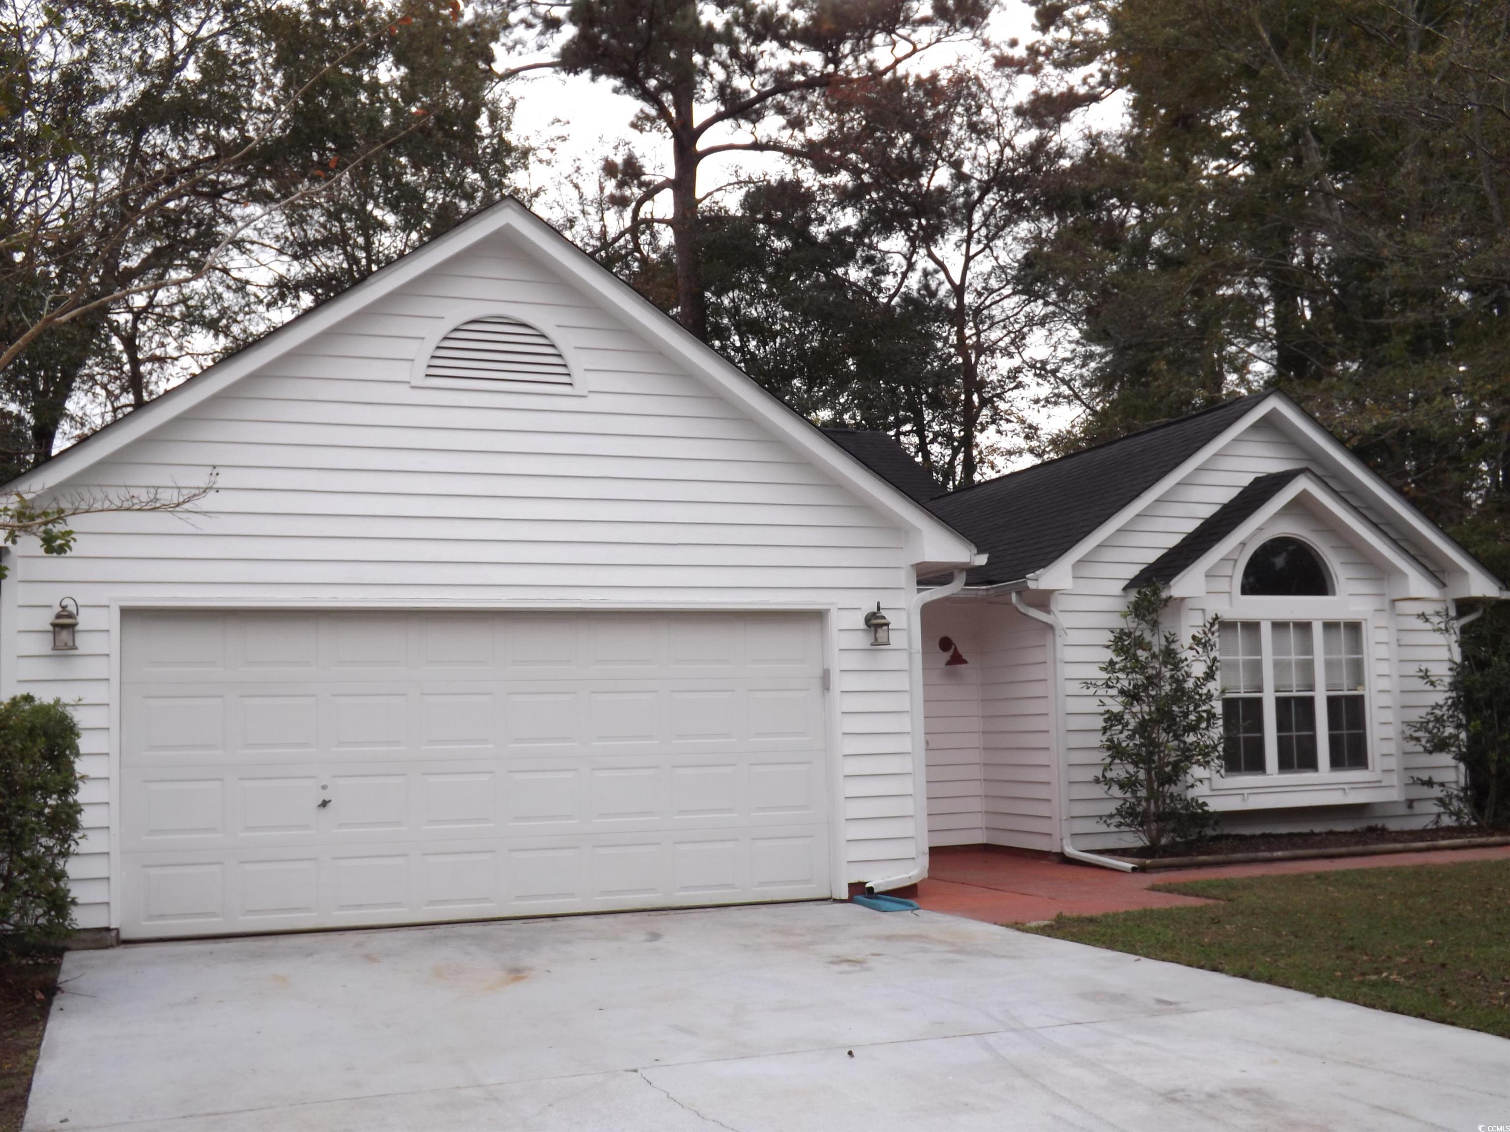
[[[1140,589],[1126,625],[1111,634],[1102,679],[1086,681],[1101,693],[1101,747],[1105,762],[1096,783],[1119,801],[1102,823],[1132,830],[1151,848],[1190,841],[1216,824],[1200,798],[1190,797],[1197,771],[1222,765],[1217,712],[1217,619],[1179,643],[1163,628],[1169,595],[1157,583]]]

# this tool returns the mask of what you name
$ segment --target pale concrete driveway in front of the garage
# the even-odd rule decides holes
[[[939,913],[74,952],[26,1129],[1475,1129],[1510,1041]]]

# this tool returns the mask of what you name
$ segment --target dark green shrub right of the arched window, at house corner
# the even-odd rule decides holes
[[[1442,696],[1406,734],[1428,755],[1450,755],[1460,771],[1451,782],[1410,782],[1438,791],[1434,824],[1510,827],[1510,619],[1489,610],[1466,637],[1451,617],[1422,620],[1451,641],[1453,660],[1445,678],[1421,669]]]

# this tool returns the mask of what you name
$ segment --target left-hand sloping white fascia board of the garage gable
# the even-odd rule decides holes
[[[183,385],[178,385],[160,397],[154,397],[140,409],[133,411],[113,424],[106,426],[92,436],[86,436],[71,448],[65,448],[51,460],[44,463],[8,486],[8,492],[33,492],[56,488],[112,456],[131,441],[143,436],[160,424],[166,424],[183,412],[199,405],[208,397],[220,392],[242,377],[276,361],[290,350],[304,346],[317,334],[329,329],[343,318],[359,312],[364,306],[376,302],[397,287],[423,275],[430,267],[465,251],[479,240],[509,223],[509,205],[506,201],[470,220],[456,225],[445,235],[439,235],[423,248],[417,248],[408,255],[396,260],[387,267],[374,272],[355,287],[341,291],[335,297],[305,311],[291,321],[284,323],[276,331],[258,338],[245,349],[231,355],[222,362],[216,362],[208,370],[202,370]]]

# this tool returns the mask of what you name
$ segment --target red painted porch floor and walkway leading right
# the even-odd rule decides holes
[[[1102,912],[1208,903],[1194,897],[1151,891],[1154,884],[1172,884],[1182,880],[1258,877],[1271,872],[1400,868],[1401,865],[1451,865],[1459,860],[1499,860],[1504,857],[1510,857],[1510,845],[1391,853],[1380,857],[1320,857],[1315,860],[1216,865],[1160,872],[1114,872],[1095,865],[1075,865],[1012,851],[936,848],[930,854],[929,878],[918,883],[915,900],[930,912],[983,919],[988,924],[1031,924],[1054,919],[1062,912],[1071,916],[1098,916]]]

